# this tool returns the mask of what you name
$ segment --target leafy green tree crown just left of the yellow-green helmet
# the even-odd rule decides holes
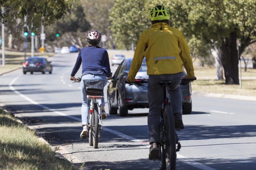
[[[109,20],[112,38],[117,48],[129,49],[131,41],[137,44],[142,31],[150,27],[149,10],[145,5],[147,3],[146,0],[115,0]]]

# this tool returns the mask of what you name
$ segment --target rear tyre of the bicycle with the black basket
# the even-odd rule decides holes
[[[98,117],[98,107],[97,104],[94,104],[94,112],[93,112],[93,147],[98,148],[98,140],[99,140],[99,117]]]

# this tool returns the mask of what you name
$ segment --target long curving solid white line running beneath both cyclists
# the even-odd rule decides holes
[[[25,96],[24,94],[21,94],[20,92],[18,92],[17,90],[15,90],[15,88],[14,88],[12,85],[13,85],[13,83],[14,83],[18,78],[19,78],[19,76],[17,76],[15,79],[13,79],[13,80],[9,83],[9,88],[10,88],[11,90],[13,90],[16,94],[18,94],[20,97],[22,97],[23,99],[26,99],[27,101],[29,101],[30,103],[32,103],[32,104],[34,104],[34,105],[37,105],[37,106],[42,107],[43,109],[45,109],[45,110],[47,110],[47,111],[52,111],[53,113],[56,113],[56,114],[58,114],[58,115],[60,115],[60,116],[69,117],[70,119],[74,119],[74,120],[77,120],[77,121],[81,122],[81,119],[80,119],[80,118],[77,118],[77,117],[75,117],[75,116],[70,116],[70,115],[67,115],[67,114],[65,114],[65,113],[62,113],[62,112],[60,112],[60,111],[56,111],[56,110],[54,110],[54,109],[51,109],[51,108],[49,108],[49,107],[47,107],[47,106],[45,106],[45,105],[41,105],[41,104],[37,103],[36,101],[34,101],[34,100],[28,98],[28,97]],[[110,133],[113,133],[113,134],[115,134],[115,135],[117,135],[117,136],[120,136],[121,138],[125,138],[125,139],[128,139],[128,140],[131,140],[132,142],[143,142],[143,141],[144,141],[144,140],[141,140],[141,139],[133,138],[133,137],[128,136],[128,135],[126,135],[126,134],[124,134],[124,133],[121,133],[121,132],[118,132],[118,131],[115,131],[115,130],[111,130],[111,129],[107,128],[107,127],[104,127],[103,129],[104,129],[105,131],[108,131],[108,132],[110,132]],[[150,147],[150,145],[147,144],[147,147]],[[191,165],[191,166],[193,166],[193,167],[197,167],[197,168],[202,169],[202,170],[215,170],[214,168],[211,168],[211,167],[208,167],[208,166],[206,166],[206,165],[203,165],[203,164],[200,164],[200,163],[198,163],[198,162],[195,162],[195,161],[193,161],[193,160],[191,160],[191,159],[189,159],[189,158],[187,158],[187,157],[185,157],[185,156],[182,156],[182,155],[180,155],[180,154],[177,154],[177,158],[178,158],[179,160],[181,160],[182,162],[186,163],[186,164],[189,164],[189,165]]]

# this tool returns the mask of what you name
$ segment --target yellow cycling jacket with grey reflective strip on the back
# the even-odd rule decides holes
[[[162,27],[162,30],[161,30]],[[187,77],[194,76],[194,68],[183,34],[176,28],[161,22],[142,32],[127,79],[133,81],[146,58],[148,75],[175,74],[183,71]]]

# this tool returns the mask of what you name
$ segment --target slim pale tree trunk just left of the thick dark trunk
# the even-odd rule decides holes
[[[223,80],[220,48],[215,47],[215,49],[211,49],[211,54],[213,55],[213,57],[215,59],[217,80]]]

